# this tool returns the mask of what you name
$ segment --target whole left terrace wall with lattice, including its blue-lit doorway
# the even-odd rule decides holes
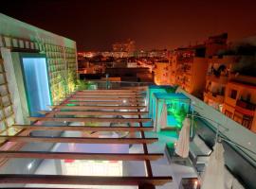
[[[36,113],[31,107],[42,105],[40,100],[47,100],[47,106],[55,105],[75,90],[77,56],[76,43],[62,36],[4,14],[0,14],[0,26],[0,93],[4,112],[0,124],[1,130],[8,132],[13,123],[27,122],[27,117]],[[41,83],[40,79],[46,82]],[[31,87],[34,84],[37,88]]]

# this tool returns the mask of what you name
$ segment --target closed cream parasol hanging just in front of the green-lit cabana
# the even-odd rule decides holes
[[[178,140],[175,146],[175,153],[182,158],[187,158],[190,151],[191,119],[186,117],[182,124],[183,126],[179,132]]]

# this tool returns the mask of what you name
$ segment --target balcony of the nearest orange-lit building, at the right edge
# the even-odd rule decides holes
[[[247,116],[253,117],[256,110],[256,105],[246,101],[237,100],[235,110]]]

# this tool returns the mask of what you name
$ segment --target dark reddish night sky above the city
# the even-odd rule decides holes
[[[256,35],[254,0],[5,0],[0,12],[68,37],[79,50],[110,50],[132,39],[137,49],[173,49],[229,33]]]

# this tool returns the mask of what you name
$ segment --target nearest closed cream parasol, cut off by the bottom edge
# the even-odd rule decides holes
[[[213,147],[209,163],[203,174],[201,189],[225,189],[224,163],[224,148],[221,143],[217,142]]]

